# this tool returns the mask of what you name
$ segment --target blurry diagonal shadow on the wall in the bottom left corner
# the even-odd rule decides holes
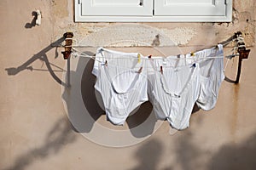
[[[55,122],[55,125],[47,133],[44,144],[21,154],[15,159],[12,167],[3,170],[25,170],[33,161],[49,159],[50,156],[58,154],[65,145],[71,144],[75,140],[76,136],[73,133],[72,125],[67,122],[66,117],[63,117]]]

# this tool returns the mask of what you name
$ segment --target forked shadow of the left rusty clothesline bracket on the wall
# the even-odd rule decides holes
[[[55,79],[56,82],[58,82],[59,84],[65,85],[67,86],[67,84],[65,82],[62,82],[61,79],[59,77],[57,77],[55,75],[55,70],[52,69],[52,66],[55,66],[56,68],[60,69],[60,71],[64,71],[63,69],[61,69],[61,67],[54,65],[52,63],[49,62],[49,59],[46,55],[46,53],[51,50],[52,48],[55,48],[54,44],[61,44],[61,42],[63,42],[65,40],[65,37],[61,37],[58,40],[56,40],[55,42],[52,42],[51,44],[49,44],[49,46],[47,46],[46,48],[42,49],[41,51],[38,52],[38,54],[34,54],[32,56],[32,58],[28,59],[25,63],[23,63],[22,65],[18,66],[18,67],[9,67],[6,68],[5,71],[7,71],[7,74],[9,76],[15,76],[17,75],[20,71],[24,71],[24,70],[30,70],[30,71],[47,71],[47,70],[41,70],[41,69],[34,69],[32,68],[32,66],[30,66],[35,60],[40,59],[42,60],[48,71],[49,74],[51,75],[51,77],[53,77]],[[55,58],[58,56],[57,51],[55,51]]]

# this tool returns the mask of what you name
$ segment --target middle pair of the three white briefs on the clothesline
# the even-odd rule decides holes
[[[167,119],[176,129],[189,127],[189,118],[199,96],[200,68],[198,64],[172,67],[164,59],[152,59],[157,68],[148,74],[150,101],[159,119]],[[162,66],[162,71],[160,71]]]

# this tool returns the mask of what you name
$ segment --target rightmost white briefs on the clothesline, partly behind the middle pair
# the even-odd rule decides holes
[[[214,58],[216,57],[216,58]],[[195,53],[200,65],[200,96],[196,104],[205,111],[213,109],[217,103],[218,91],[224,81],[223,46],[209,48]],[[207,59],[210,58],[210,59]]]

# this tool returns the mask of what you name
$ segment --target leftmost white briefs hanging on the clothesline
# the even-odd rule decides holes
[[[108,121],[115,125],[123,125],[131,111],[148,100],[144,61],[138,61],[134,53],[104,48],[96,53],[92,71],[97,78],[95,88],[102,95]]]

